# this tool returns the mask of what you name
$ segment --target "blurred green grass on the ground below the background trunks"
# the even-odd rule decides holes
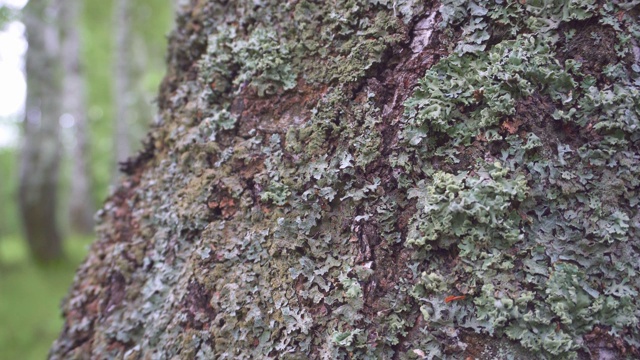
[[[60,302],[91,240],[69,239],[64,263],[39,267],[22,239],[0,238],[0,359],[46,359],[62,329]]]

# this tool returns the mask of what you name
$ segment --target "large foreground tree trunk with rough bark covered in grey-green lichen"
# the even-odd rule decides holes
[[[51,358],[637,357],[637,18],[191,1]]]

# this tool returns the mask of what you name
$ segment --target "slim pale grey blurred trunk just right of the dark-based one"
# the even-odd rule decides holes
[[[69,200],[72,230],[89,234],[93,231],[95,207],[89,174],[86,87],[80,63],[78,23],[80,2],[65,1],[60,9],[62,26],[61,61],[64,67],[63,112],[73,124],[71,194]]]

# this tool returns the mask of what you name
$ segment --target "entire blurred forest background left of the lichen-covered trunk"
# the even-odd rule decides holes
[[[155,121],[178,2],[0,0],[0,359],[44,359],[61,329],[94,213]]]

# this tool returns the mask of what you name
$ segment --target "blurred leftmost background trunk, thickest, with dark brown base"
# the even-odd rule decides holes
[[[62,256],[56,216],[62,94],[58,8],[56,1],[31,1],[24,9],[29,50],[20,212],[31,254],[41,262]]]

